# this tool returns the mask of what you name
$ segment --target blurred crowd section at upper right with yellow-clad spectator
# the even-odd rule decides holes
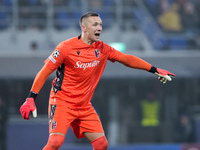
[[[152,18],[171,39],[162,49],[200,48],[199,0],[144,0]],[[175,45],[175,46],[172,46]],[[178,46],[178,47],[177,47]],[[173,49],[173,48],[172,48]]]

